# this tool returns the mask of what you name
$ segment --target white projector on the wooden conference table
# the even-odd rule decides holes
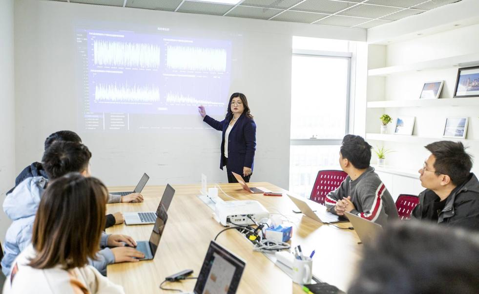
[[[232,225],[231,223],[242,226],[254,225],[248,215],[255,222],[270,218],[268,210],[256,200],[218,202],[215,205],[215,214],[223,226]]]

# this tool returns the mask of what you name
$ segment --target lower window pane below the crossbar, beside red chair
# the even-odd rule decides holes
[[[290,191],[309,198],[318,171],[341,170],[339,145],[290,146]]]

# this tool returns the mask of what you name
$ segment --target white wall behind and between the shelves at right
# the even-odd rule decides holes
[[[395,66],[477,53],[479,52],[478,31],[479,24],[466,27],[459,26],[459,28],[454,30],[382,46],[385,47],[386,54],[385,56],[378,55],[376,62],[380,63],[382,61],[384,62],[384,66]],[[370,45],[370,47],[371,46],[377,45]],[[375,57],[370,55],[370,58]],[[377,67],[381,66],[371,66],[370,68]],[[373,92],[376,92],[376,94],[369,96],[368,101],[418,99],[424,82],[435,80],[444,80],[444,87],[442,88],[440,98],[452,98],[457,73],[457,68],[446,68],[393,74],[387,77],[370,77],[368,80],[368,94]],[[381,82],[378,79],[383,79],[384,81]],[[383,92],[382,97],[378,94],[378,92],[381,91]],[[379,133],[379,119],[375,117],[377,116],[376,112],[377,110],[375,109],[368,109],[368,115],[370,115],[367,123],[368,133]],[[476,174],[479,172],[479,107],[389,108],[379,109],[379,112],[390,114],[393,120],[398,115],[415,116],[416,123],[413,135],[438,138],[442,136],[446,117],[469,117],[469,127],[466,137],[469,140],[465,141],[464,145],[468,146],[468,152],[476,157],[476,164],[474,164],[472,171]],[[393,133],[393,129],[394,122],[389,125],[389,134]],[[381,144],[381,142],[373,143]],[[424,159],[429,155],[429,152],[419,144],[386,142],[384,145],[386,148],[396,150],[395,153],[386,156],[387,165],[401,170],[417,172],[422,166]]]

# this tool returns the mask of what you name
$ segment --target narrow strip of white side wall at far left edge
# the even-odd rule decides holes
[[[0,1],[0,203],[15,184],[15,84],[14,84],[14,1]],[[10,220],[0,210],[0,241],[3,243]]]

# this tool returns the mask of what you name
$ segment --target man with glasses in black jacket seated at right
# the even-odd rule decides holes
[[[479,181],[471,173],[472,159],[461,142],[438,141],[419,169],[426,188],[419,194],[413,217],[479,230]]]

